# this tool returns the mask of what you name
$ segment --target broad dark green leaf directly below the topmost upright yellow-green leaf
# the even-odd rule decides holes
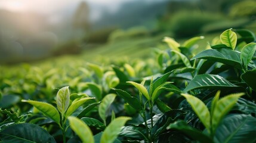
[[[225,50],[227,51],[226,55],[224,55],[223,53],[215,49],[206,49],[205,51],[202,51],[199,54],[195,55],[195,57],[193,57],[191,60],[200,58],[200,59],[211,60],[211,61],[227,64],[229,66],[236,67],[237,69],[242,69],[242,63],[240,61],[240,58],[232,58],[232,57],[238,57],[239,53],[229,49],[225,49]]]

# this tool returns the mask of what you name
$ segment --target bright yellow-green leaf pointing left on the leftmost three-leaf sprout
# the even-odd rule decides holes
[[[51,104],[46,102],[32,101],[32,100],[21,100],[22,102],[28,102],[29,104],[36,107],[39,111],[45,114],[45,116],[50,117],[54,122],[60,124],[60,114],[58,110]]]

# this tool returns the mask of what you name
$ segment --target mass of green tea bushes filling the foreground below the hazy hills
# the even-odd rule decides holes
[[[234,32],[235,31],[235,32]],[[1,67],[1,142],[255,142],[254,33],[164,38],[155,57]]]

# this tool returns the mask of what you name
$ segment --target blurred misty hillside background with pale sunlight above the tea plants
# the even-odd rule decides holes
[[[255,0],[0,0],[0,63],[143,57],[164,36],[206,43],[229,28],[256,32],[255,19]]]

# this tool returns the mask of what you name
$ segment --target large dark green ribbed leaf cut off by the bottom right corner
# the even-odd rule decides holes
[[[215,134],[216,143],[255,142],[256,119],[251,115],[233,114],[226,117]]]

